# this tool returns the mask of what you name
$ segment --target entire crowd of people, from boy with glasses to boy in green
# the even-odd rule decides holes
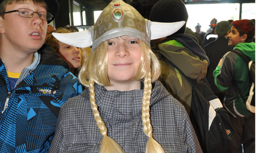
[[[112,0],[79,31],[49,24],[57,0],[0,0],[0,153],[213,153],[202,135],[220,109],[216,137],[235,144],[222,153],[255,153],[254,82],[233,52],[255,62],[255,20],[193,32],[181,0],[147,1]],[[201,100],[205,133],[192,123],[199,82],[216,97]]]

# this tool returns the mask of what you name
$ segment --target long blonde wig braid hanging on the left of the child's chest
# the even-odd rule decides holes
[[[124,153],[122,147],[107,135],[108,129],[105,126],[104,121],[102,121],[102,117],[100,116],[100,112],[98,111],[98,106],[96,104],[94,83],[95,82],[92,79],[89,79],[91,109],[97,123],[97,127],[100,129],[100,133],[103,135],[100,153]]]

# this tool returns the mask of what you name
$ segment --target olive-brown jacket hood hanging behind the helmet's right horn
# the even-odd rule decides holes
[[[167,38],[165,42],[176,40],[185,47],[177,47],[161,42],[157,50],[163,55],[163,59],[167,59],[166,61],[168,63],[175,65],[185,76],[200,81],[207,73],[208,62],[206,59],[208,58],[205,51],[196,41],[191,40],[190,36],[185,35],[184,40],[181,40],[181,38],[182,37]],[[188,46],[190,42],[192,47]]]

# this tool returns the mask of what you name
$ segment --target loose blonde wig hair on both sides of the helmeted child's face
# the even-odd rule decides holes
[[[135,80],[143,79],[151,71],[152,81],[160,76],[160,63],[151,48],[141,41],[141,63]],[[84,86],[89,86],[89,79],[101,86],[111,86],[108,78],[108,41],[103,41],[83,64],[78,78]]]

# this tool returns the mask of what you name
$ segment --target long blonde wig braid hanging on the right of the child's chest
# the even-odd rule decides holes
[[[144,93],[142,98],[142,124],[143,131],[145,135],[148,136],[146,153],[165,153],[164,149],[160,146],[160,144],[153,139],[153,128],[150,123],[150,98],[152,92],[152,84],[151,84],[151,71],[144,78]]]

